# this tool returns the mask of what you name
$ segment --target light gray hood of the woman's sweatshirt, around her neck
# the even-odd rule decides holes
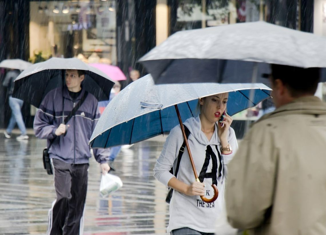
[[[201,122],[199,115],[194,118],[189,118],[184,122],[185,126],[189,129],[190,133],[197,139],[200,144],[203,145],[218,145],[219,139],[217,136],[217,131],[214,132],[210,140],[207,139],[204,132],[201,131]],[[215,127],[216,128],[216,127]]]

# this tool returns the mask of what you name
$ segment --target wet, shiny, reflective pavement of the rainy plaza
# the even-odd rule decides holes
[[[46,174],[46,140],[6,139],[0,133],[0,234],[46,234],[55,199],[53,177]],[[99,195],[101,173],[92,158],[85,207],[84,235],[166,234],[167,188],[153,176],[164,138],[123,149],[114,161],[123,187],[108,198]]]

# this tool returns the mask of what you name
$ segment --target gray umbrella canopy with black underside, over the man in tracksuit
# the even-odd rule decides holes
[[[114,82],[104,72],[76,58],[51,58],[30,66],[16,78],[12,96],[39,107],[49,91],[64,85],[66,69],[85,71],[82,86],[98,101],[109,99]]]

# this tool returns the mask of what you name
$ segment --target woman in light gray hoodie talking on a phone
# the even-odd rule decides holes
[[[224,185],[226,165],[238,149],[232,118],[227,114],[229,93],[201,98],[199,115],[184,122],[189,148],[200,182],[196,182],[188,152],[182,149],[184,137],[180,126],[174,127],[156,161],[154,176],[164,185],[174,189],[170,200],[170,221],[167,231],[171,235],[224,234],[216,230],[216,223],[226,223]],[[183,155],[177,175],[179,154]],[[200,196],[212,198],[215,184],[218,198],[207,203]],[[220,218],[220,221],[217,221]],[[228,224],[227,224],[228,226]]]

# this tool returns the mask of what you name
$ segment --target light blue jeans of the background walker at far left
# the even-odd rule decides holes
[[[25,127],[25,123],[24,120],[22,119],[22,104],[23,101],[20,99],[16,99],[16,98],[12,98],[11,96],[9,96],[9,106],[11,108],[11,117],[9,120],[9,124],[7,127],[7,133],[11,134],[12,130],[15,127],[15,124],[17,122],[17,125],[19,127],[19,129],[22,132],[22,135],[26,135],[26,127]]]

